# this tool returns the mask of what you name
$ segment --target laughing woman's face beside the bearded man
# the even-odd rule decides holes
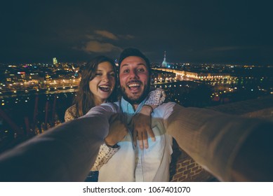
[[[89,81],[89,89],[94,95],[95,105],[105,103],[116,84],[114,69],[111,63],[101,62],[95,71],[95,78]]]

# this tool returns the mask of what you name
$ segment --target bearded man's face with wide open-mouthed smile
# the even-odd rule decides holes
[[[126,57],[120,65],[119,82],[124,99],[140,104],[149,91],[149,71],[141,57]]]

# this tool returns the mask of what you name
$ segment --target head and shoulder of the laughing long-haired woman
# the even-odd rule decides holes
[[[81,71],[75,104],[65,112],[65,121],[84,116],[94,106],[115,100],[116,66],[108,57],[95,57]]]

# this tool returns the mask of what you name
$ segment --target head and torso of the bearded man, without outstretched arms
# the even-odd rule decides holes
[[[137,49],[124,50],[119,58],[121,101],[116,102],[115,106],[102,104],[86,114],[123,113],[129,130],[126,137],[117,143],[119,151],[101,167],[99,181],[169,181],[169,164],[173,151],[172,137],[166,134],[166,125],[175,103],[162,104],[152,112],[155,141],[148,138],[149,148],[142,149],[133,144],[131,118],[142,109],[147,99],[150,76],[149,59]]]

